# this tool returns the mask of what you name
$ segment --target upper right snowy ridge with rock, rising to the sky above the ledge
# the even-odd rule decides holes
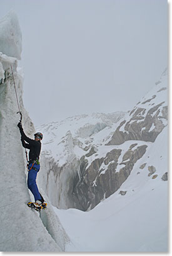
[[[126,140],[154,142],[168,124],[168,72],[164,70],[159,83],[142,97],[132,111],[126,114],[108,145],[120,145]]]

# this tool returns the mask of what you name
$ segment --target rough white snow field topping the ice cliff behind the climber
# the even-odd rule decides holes
[[[126,113],[116,112],[111,114],[93,113],[66,118],[60,122],[53,122],[37,127],[44,134],[43,152],[49,154],[58,165],[68,162],[68,150],[78,159],[84,155],[84,148],[88,145],[101,145],[104,137],[118,125],[118,120]],[[73,145],[72,140],[78,141],[79,145]],[[69,143],[70,141],[70,143]],[[104,142],[105,143],[105,142]],[[57,147],[58,145],[58,147]]]

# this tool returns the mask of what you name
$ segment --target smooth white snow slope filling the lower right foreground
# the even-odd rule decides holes
[[[167,135],[166,127],[146,152],[144,169],[141,159],[120,189],[91,211],[54,208],[73,242],[69,252],[168,251],[168,186],[161,179],[168,170]],[[156,179],[148,176],[149,164]]]

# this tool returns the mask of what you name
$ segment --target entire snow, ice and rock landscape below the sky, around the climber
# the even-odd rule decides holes
[[[93,113],[34,128],[23,104],[22,36],[0,21],[0,171],[3,252],[168,252],[168,70],[128,113]],[[17,127],[44,134],[37,213]]]

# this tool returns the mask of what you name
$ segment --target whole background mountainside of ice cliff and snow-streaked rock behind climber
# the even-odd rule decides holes
[[[119,189],[140,159],[145,164],[144,155],[168,123],[167,79],[164,70],[128,113],[74,116],[38,128],[45,138],[39,184],[54,206],[93,209]]]

